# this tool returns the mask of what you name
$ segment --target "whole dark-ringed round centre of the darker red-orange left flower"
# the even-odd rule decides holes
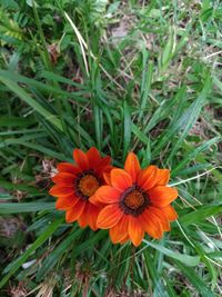
[[[83,200],[88,200],[101,186],[100,178],[93,170],[84,170],[77,176],[74,182],[75,195]]]

